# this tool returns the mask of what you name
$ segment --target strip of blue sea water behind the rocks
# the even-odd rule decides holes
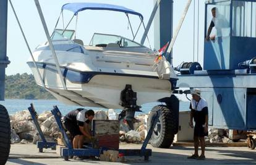
[[[51,111],[53,106],[58,106],[61,110],[62,114],[67,114],[67,112],[72,111],[75,108],[81,108],[80,106],[69,106],[59,102],[56,99],[6,99],[5,101],[0,101],[0,104],[6,107],[9,114],[14,114],[17,111],[22,111],[27,109],[30,106],[30,103],[33,103],[35,106],[36,112],[39,114],[43,111]],[[153,106],[156,106],[160,103],[147,103],[143,104],[141,110],[143,112],[137,112],[136,114],[143,114],[148,113]],[[189,111],[189,104],[190,102],[187,101],[180,101],[179,111]],[[83,107],[85,109],[93,109],[93,110],[103,110],[108,111],[108,109],[104,108],[90,108],[90,107]],[[121,111],[121,109],[116,109],[116,112]]]

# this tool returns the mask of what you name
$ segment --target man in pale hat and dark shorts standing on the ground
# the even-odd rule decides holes
[[[208,105],[207,101],[201,98],[201,91],[195,89],[192,91],[192,100],[190,103],[190,127],[194,128],[194,146],[195,153],[189,156],[189,159],[205,159],[205,136],[208,136]],[[195,127],[193,124],[195,121]],[[198,156],[199,140],[202,154]]]

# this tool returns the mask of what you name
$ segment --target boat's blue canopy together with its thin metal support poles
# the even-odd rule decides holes
[[[143,25],[144,30],[145,28],[145,23],[143,22],[143,15],[140,14],[139,12],[135,12],[132,9],[128,9],[126,7],[123,6],[117,6],[117,5],[113,5],[113,4],[101,4],[101,3],[90,3],[90,2],[75,2],[75,3],[67,3],[64,4],[64,6],[62,6],[61,8],[61,14],[59,15],[59,19],[62,16],[62,22],[64,22],[64,18],[63,18],[63,11],[71,11],[74,13],[73,17],[70,19],[69,23],[67,23],[67,26],[64,27],[63,25],[63,29],[64,31],[62,33],[64,33],[67,30],[67,27],[69,27],[70,22],[73,20],[73,18],[76,16],[76,24],[75,24],[75,29],[77,29],[77,18],[78,18],[78,14],[81,11],[85,11],[85,10],[96,10],[96,11],[116,11],[116,12],[124,12],[124,14],[126,14],[127,19],[129,21],[129,26],[130,26],[130,30],[132,31],[132,36],[133,36],[133,40],[135,40],[135,37],[137,36],[137,33],[139,32],[140,26]],[[132,15],[137,15],[139,16],[141,22],[139,25],[139,28],[137,29],[137,31],[134,33],[134,30],[132,29],[132,25],[130,23],[130,19],[129,19],[129,14]],[[55,25],[55,28],[58,25],[59,19]],[[64,24],[64,23],[63,23]],[[54,29],[55,29],[54,28]],[[76,36],[76,35],[75,35]]]

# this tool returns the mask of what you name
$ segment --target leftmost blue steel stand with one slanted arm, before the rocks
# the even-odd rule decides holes
[[[39,152],[42,153],[43,152],[43,148],[51,148],[52,150],[56,150],[56,142],[47,142],[45,135],[43,135],[43,132],[41,130],[40,124],[38,123],[37,120],[37,113],[35,111],[35,108],[33,106],[33,104],[30,104],[30,107],[28,107],[28,111],[30,112],[32,119],[35,123],[36,129],[41,137],[42,141],[38,141],[36,142],[37,148],[39,149]]]

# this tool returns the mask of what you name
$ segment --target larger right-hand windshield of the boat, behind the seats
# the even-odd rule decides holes
[[[95,33],[93,35],[92,40],[90,41],[90,46],[100,46],[106,47],[108,44],[118,44],[120,48],[127,48],[127,47],[143,47],[141,44],[136,43],[135,41],[129,40],[122,36],[117,35],[106,35]]]

